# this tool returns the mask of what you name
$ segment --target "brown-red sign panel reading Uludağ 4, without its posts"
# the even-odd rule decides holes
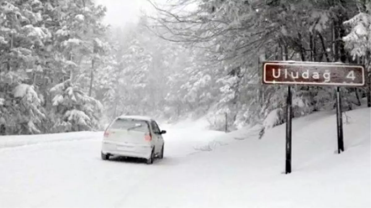
[[[264,84],[303,84],[364,87],[365,68],[357,64],[266,61]]]

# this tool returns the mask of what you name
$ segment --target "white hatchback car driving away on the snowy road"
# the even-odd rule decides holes
[[[111,155],[144,158],[152,164],[164,157],[164,139],[156,121],[149,117],[122,115],[115,118],[104,132],[101,157]]]

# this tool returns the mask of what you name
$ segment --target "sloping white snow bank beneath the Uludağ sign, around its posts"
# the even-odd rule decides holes
[[[282,174],[285,124],[267,130],[261,140],[256,131],[245,129],[216,138],[229,145],[187,157],[136,189],[137,196],[149,196],[152,207],[368,208],[371,108],[348,115],[345,152],[340,155],[335,154],[333,113],[293,120],[293,172],[289,175]],[[164,181],[167,185],[161,187]],[[152,192],[148,187],[161,188]],[[151,206],[131,198],[125,204]]]

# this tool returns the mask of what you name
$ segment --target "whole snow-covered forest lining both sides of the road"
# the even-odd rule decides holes
[[[0,135],[102,130],[122,114],[207,117],[223,130],[285,122],[286,86],[262,61],[364,64],[342,109],[371,107],[370,0],[148,0],[156,14],[103,23],[94,0],[1,0]],[[335,108],[334,87],[293,87],[293,116]]]

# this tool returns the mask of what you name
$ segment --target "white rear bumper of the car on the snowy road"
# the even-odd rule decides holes
[[[116,142],[104,141],[102,152],[123,157],[137,157],[148,159],[151,157],[152,147],[150,145],[118,144]]]

